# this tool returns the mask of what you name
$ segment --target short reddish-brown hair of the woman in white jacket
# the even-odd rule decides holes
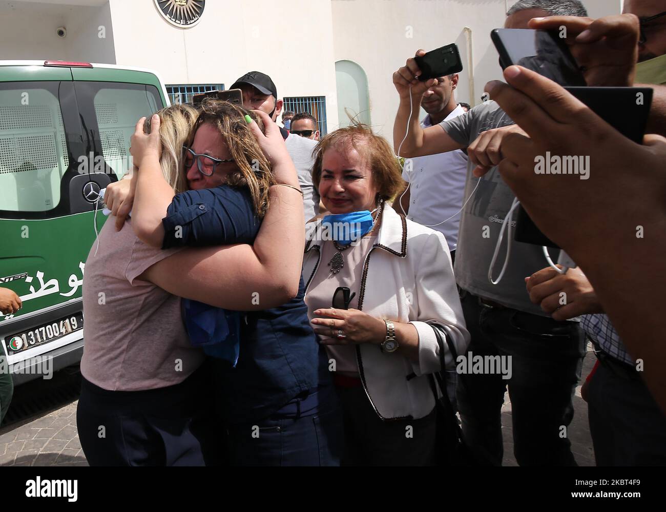
[[[372,179],[378,190],[377,199],[386,201],[402,190],[402,171],[392,147],[384,137],[375,135],[370,127],[362,124],[332,131],[316,145],[312,151],[314,155],[312,183],[315,187],[319,188],[319,181],[322,179],[322,160],[326,150],[331,148],[344,150],[349,144],[370,165]]]

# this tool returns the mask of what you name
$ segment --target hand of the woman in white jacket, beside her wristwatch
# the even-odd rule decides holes
[[[386,339],[386,323],[372,317],[360,309],[317,309],[312,324],[319,325],[314,332],[322,335],[322,345],[352,345],[353,343],[374,343],[380,345]],[[340,336],[340,331],[344,337]]]

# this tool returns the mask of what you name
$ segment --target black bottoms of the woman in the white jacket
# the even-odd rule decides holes
[[[363,387],[338,387],[344,414],[345,466],[434,465],[435,411],[420,419],[382,421]]]

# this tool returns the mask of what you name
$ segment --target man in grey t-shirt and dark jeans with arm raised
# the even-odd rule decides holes
[[[585,16],[587,12],[577,0],[519,0],[509,9],[504,26],[526,29],[529,19],[551,15]],[[418,81],[419,74],[414,59],[394,73],[400,95],[394,147],[404,157],[466,148],[470,163],[476,165],[468,166],[465,197],[470,201],[462,211],[455,265],[472,335],[468,353],[506,357],[512,368],[507,380],[499,373],[460,375],[458,405],[466,441],[481,463],[501,464],[501,406],[508,387],[518,463],[575,465],[571,443],[562,432],[573,418],[571,399],[585,353],[581,329],[576,322],[553,320],[529,300],[525,277],[543,268],[541,247],[512,242],[503,279],[497,284],[489,279],[500,229],[515,197],[496,168],[501,140],[521,130],[497,103],[488,101],[425,129],[410,119],[402,143],[410,118],[410,95],[418,109],[432,85],[432,81]],[[501,260],[490,272],[496,282]]]

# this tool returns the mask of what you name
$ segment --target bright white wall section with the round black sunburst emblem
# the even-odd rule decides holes
[[[248,71],[262,71],[280,98],[326,96],[329,130],[337,125],[328,0],[208,1],[200,22],[189,29],[165,21],[153,0],[110,4],[119,65],[155,69],[165,83],[227,88]]]

